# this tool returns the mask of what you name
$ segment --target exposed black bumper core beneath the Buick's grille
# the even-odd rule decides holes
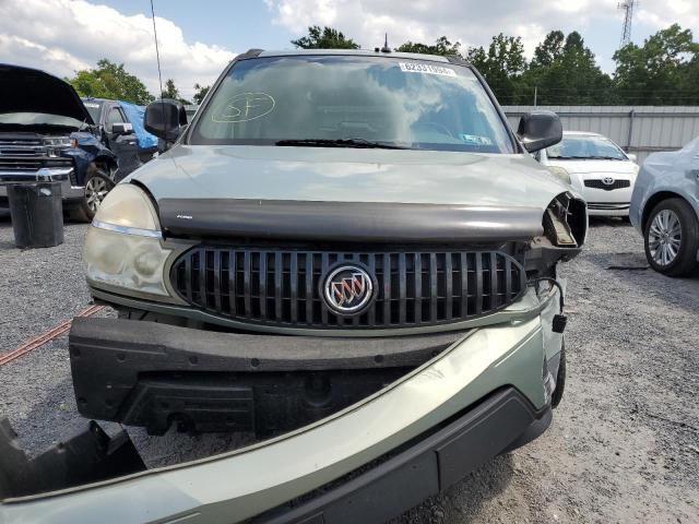
[[[285,337],[76,318],[69,347],[85,417],[158,434],[186,419],[199,431],[266,436],[360,401],[463,336]]]

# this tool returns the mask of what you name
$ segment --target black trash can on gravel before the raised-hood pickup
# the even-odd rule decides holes
[[[14,245],[50,248],[63,243],[63,203],[60,182],[8,186]]]

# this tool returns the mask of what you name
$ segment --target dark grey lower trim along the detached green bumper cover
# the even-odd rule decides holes
[[[382,523],[438,495],[526,434],[543,433],[550,409],[536,412],[517,390],[493,393],[446,427],[403,446],[364,473],[265,512],[250,524]]]

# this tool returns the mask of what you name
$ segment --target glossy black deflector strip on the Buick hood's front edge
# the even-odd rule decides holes
[[[500,242],[541,236],[537,207],[247,199],[162,199],[165,234],[325,242]]]

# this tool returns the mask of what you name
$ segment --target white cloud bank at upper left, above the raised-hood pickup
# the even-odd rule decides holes
[[[194,83],[210,84],[235,56],[218,46],[189,43],[180,27],[155,19],[163,82],[174,79],[185,97]],[[36,67],[67,76],[100,58],[123,62],[151,93],[158,93],[153,21],[126,16],[84,0],[1,0],[0,62]]]

